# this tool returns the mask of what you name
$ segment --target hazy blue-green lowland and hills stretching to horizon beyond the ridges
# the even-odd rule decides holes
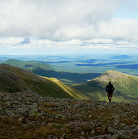
[[[1,55],[0,63],[9,64],[35,74],[54,77],[66,85],[85,83],[108,70],[138,75],[137,55]]]

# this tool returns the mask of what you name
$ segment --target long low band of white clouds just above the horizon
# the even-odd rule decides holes
[[[15,40],[15,41],[14,41]],[[24,43],[25,42],[25,43]],[[26,43],[27,42],[27,43]],[[0,48],[9,49],[58,49],[58,50],[125,50],[125,49],[138,49],[137,44],[127,40],[113,40],[113,39],[91,39],[91,40],[79,40],[72,39],[67,41],[51,41],[47,39],[31,38],[0,38]]]

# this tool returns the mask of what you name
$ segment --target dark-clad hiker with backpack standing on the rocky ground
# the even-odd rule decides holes
[[[111,82],[109,82],[109,84],[106,86],[106,92],[108,93],[107,95],[108,95],[109,102],[111,102],[112,100],[113,91],[114,91],[114,86],[111,84]]]

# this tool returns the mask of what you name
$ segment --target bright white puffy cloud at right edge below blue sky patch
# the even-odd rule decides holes
[[[138,36],[138,20],[134,19],[112,19],[100,24],[99,35],[108,38],[136,39]]]

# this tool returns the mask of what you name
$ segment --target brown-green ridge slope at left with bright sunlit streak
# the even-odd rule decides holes
[[[59,85],[53,79],[43,78],[26,70],[2,64],[0,64],[0,91],[10,93],[29,91],[55,98],[87,98],[63,83]]]

